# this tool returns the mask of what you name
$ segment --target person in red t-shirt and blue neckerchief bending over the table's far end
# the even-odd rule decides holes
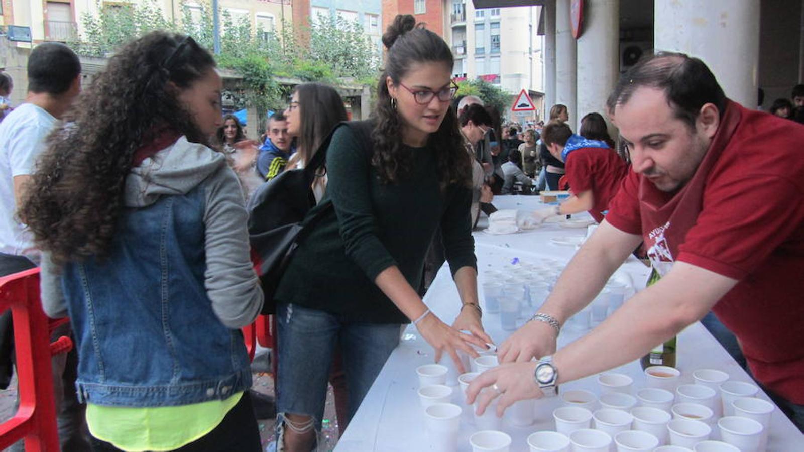
[[[554,208],[533,212],[539,222],[556,215],[589,211],[597,223],[609,210],[609,201],[617,194],[628,166],[605,142],[572,134],[565,122],[550,122],[542,130],[542,142],[550,154],[564,162],[572,196]]]

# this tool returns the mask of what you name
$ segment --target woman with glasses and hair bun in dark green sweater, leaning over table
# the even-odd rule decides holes
[[[336,343],[352,417],[405,323],[416,324],[435,360],[449,355],[461,372],[457,352],[477,355],[472,345],[490,342],[478,306],[471,161],[449,109],[452,52],[412,15],[396,16],[383,43],[373,117],[335,129],[326,194],[310,212],[320,220],[277,290],[277,450],[314,448]],[[414,290],[437,228],[463,303],[452,326]]]

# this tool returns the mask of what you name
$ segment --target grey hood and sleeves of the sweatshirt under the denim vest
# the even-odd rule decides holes
[[[263,294],[249,259],[243,191],[224,154],[178,138],[131,169],[125,179],[125,207],[144,208],[162,196],[186,195],[199,185],[205,194],[207,297],[225,326],[245,327],[260,313]],[[43,310],[51,318],[66,316],[59,271],[47,252],[41,274]]]

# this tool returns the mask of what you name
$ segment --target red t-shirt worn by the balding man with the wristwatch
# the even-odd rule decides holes
[[[690,182],[667,194],[632,172],[606,216],[642,235],[659,273],[684,261],[739,280],[713,310],[757,380],[796,404],[804,404],[802,143],[804,126],[729,102]]]

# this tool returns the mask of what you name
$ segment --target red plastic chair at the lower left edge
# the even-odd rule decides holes
[[[59,431],[51,355],[70,350],[72,341],[62,336],[51,344],[50,331],[67,320],[49,322],[44,314],[39,300],[39,269],[0,277],[0,311],[6,309],[11,310],[14,322],[19,409],[0,424],[0,450],[25,438],[27,452],[56,452]]]

